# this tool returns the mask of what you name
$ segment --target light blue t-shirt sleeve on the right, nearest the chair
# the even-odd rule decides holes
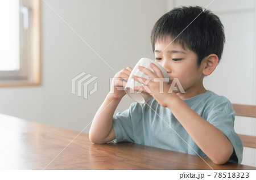
[[[223,97],[223,96],[222,96]],[[235,112],[231,102],[223,97],[214,103],[208,114],[207,121],[217,127],[229,139],[233,145],[233,153],[229,162],[242,162],[243,144],[240,137],[234,131]]]

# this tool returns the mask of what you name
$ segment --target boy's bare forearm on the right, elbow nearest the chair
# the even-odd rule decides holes
[[[233,153],[233,145],[217,127],[205,121],[176,94],[171,93],[168,108],[198,147],[215,164],[224,164]]]

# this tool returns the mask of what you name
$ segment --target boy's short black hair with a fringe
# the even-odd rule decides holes
[[[199,6],[183,6],[167,12],[155,23],[151,31],[153,53],[156,41],[166,37],[171,37],[174,43],[181,45],[183,49],[195,52],[198,67],[209,54],[216,54],[220,62],[225,44],[224,27],[218,16],[210,10]]]

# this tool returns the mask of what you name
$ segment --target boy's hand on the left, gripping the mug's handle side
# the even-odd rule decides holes
[[[114,75],[109,93],[110,96],[119,100],[126,95],[125,85],[132,70],[133,68],[126,67]]]

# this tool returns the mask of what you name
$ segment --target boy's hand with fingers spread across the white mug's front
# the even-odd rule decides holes
[[[160,70],[160,68],[154,65],[154,63],[150,63],[150,67],[154,70],[155,74],[148,68],[145,68],[143,66],[138,67],[138,69],[142,71],[144,74],[146,74],[148,78],[151,78],[151,80],[146,85],[144,84],[143,86],[137,86],[137,87],[134,87],[133,89],[135,91],[139,91],[142,88],[143,92],[147,92],[151,96],[153,96],[160,105],[162,105],[163,107],[167,107],[168,100],[169,100],[169,98],[167,97],[172,94],[172,93],[168,93],[168,90],[170,89],[171,84],[168,84],[168,82],[164,82],[164,79],[163,79],[164,76],[162,74],[162,71]],[[146,78],[142,78],[139,76],[132,76],[131,78],[134,78],[134,80],[136,80],[137,82],[139,82],[138,78],[141,78],[143,82],[146,82],[147,80]],[[163,89],[160,89],[160,86],[163,86]],[[144,88],[144,87],[148,87],[148,88]],[[150,91],[147,91],[148,89],[150,89]]]

